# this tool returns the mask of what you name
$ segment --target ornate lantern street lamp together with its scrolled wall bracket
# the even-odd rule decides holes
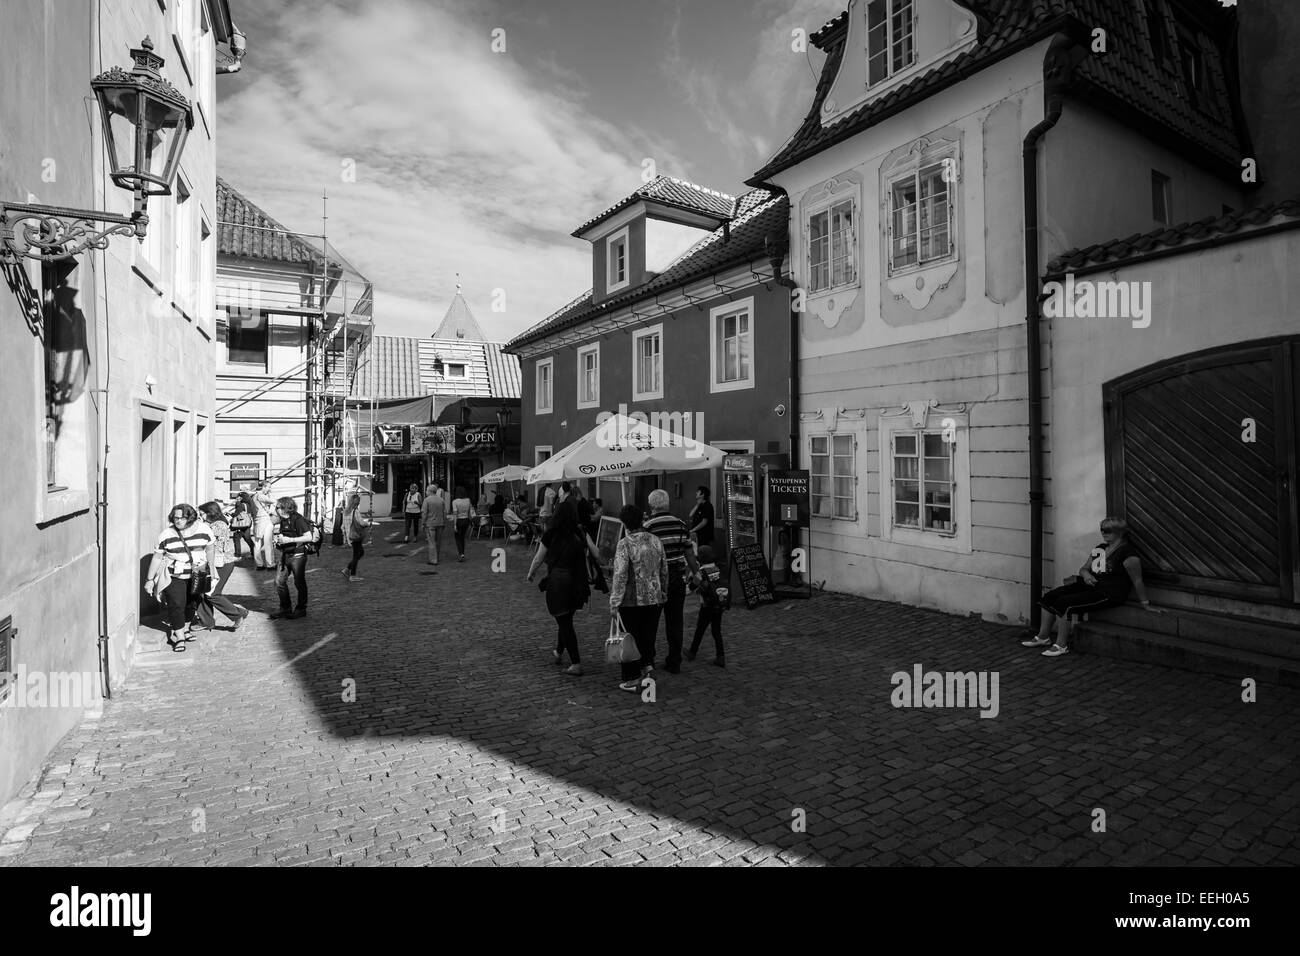
[[[148,198],[172,194],[181,151],[194,127],[190,101],[159,72],[162,57],[146,36],[131,51],[135,69],[114,66],[90,86],[99,101],[113,182],[135,196],[130,216],[62,206],[0,203],[0,258],[43,261],[70,259],[87,248],[108,248],[112,235],[144,241]],[[100,229],[94,224],[109,224]]]

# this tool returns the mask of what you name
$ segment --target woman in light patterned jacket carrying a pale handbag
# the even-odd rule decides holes
[[[614,551],[610,614],[619,615],[641,652],[640,661],[623,662],[619,684],[620,691],[636,693],[641,678],[654,670],[659,614],[668,594],[668,561],[659,538],[641,527],[641,510],[636,505],[624,505],[619,519],[628,533]]]

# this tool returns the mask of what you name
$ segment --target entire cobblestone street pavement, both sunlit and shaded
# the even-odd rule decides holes
[[[308,618],[142,654],[4,808],[0,864],[1300,864],[1295,691],[819,594],[731,611],[728,669],[646,702],[602,662],[603,596],[586,676],[551,665],[500,546],[434,575],[377,532],[361,583],[312,559]],[[274,610],[270,575],[228,591]],[[916,663],[997,671],[997,715],[894,708]]]

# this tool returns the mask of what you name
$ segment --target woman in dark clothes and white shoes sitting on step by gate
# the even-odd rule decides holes
[[[1130,591],[1138,592],[1143,607],[1150,605],[1141,583],[1141,558],[1128,542],[1128,523],[1123,518],[1104,519],[1101,538],[1079,568],[1079,580],[1049,591],[1039,601],[1044,611],[1043,626],[1036,635],[1027,635],[1022,646],[1052,644],[1048,635],[1056,627],[1056,644],[1044,650],[1043,657],[1061,657],[1070,653],[1070,615],[1118,607],[1128,600]]]

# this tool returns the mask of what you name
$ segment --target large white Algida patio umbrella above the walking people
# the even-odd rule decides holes
[[[725,455],[722,449],[702,441],[666,432],[627,415],[611,415],[530,470],[524,480],[536,485],[542,481],[620,479],[655,471],[696,471],[716,468]],[[623,496],[625,499],[627,485]]]

